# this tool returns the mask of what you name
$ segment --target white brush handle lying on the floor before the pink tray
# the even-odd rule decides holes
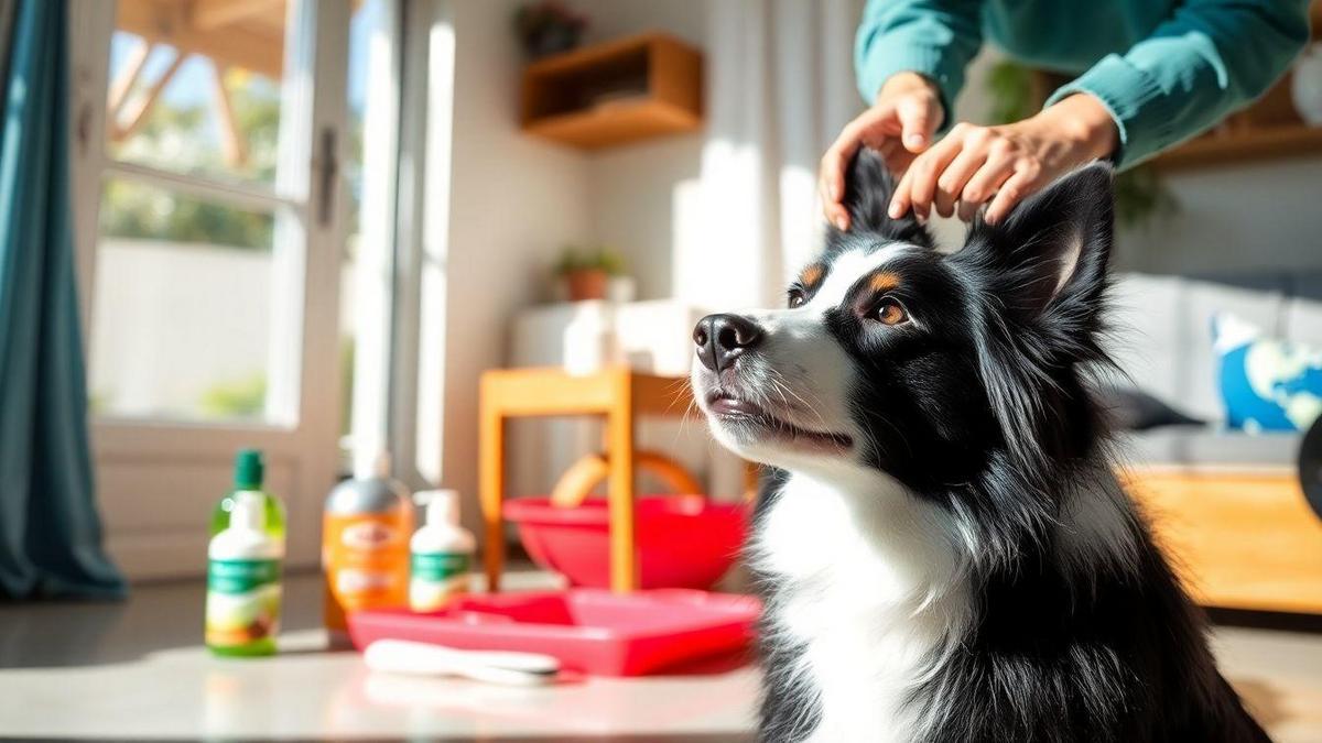
[[[368,645],[362,657],[373,670],[411,676],[463,676],[516,686],[547,684],[561,669],[561,661],[539,653],[459,650],[408,640],[377,640]]]

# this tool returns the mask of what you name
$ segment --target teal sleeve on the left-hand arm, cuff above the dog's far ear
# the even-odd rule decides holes
[[[854,44],[858,93],[871,104],[895,73],[919,73],[941,91],[945,126],[964,67],[982,46],[981,0],[869,0]]]

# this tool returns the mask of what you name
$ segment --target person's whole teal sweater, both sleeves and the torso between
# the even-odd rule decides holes
[[[1199,134],[1257,98],[1309,38],[1307,0],[869,0],[854,48],[869,103],[916,71],[945,110],[984,37],[1027,65],[1079,75],[1120,130],[1120,167]],[[947,115],[947,126],[952,122]]]

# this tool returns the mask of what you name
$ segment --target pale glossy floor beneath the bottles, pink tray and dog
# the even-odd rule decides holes
[[[288,580],[283,652],[264,660],[206,653],[200,583],[139,587],[123,604],[0,608],[0,740],[752,739],[752,668],[542,689],[371,674],[323,649],[319,590],[315,576]],[[1322,635],[1219,628],[1215,645],[1278,743],[1322,740]]]

